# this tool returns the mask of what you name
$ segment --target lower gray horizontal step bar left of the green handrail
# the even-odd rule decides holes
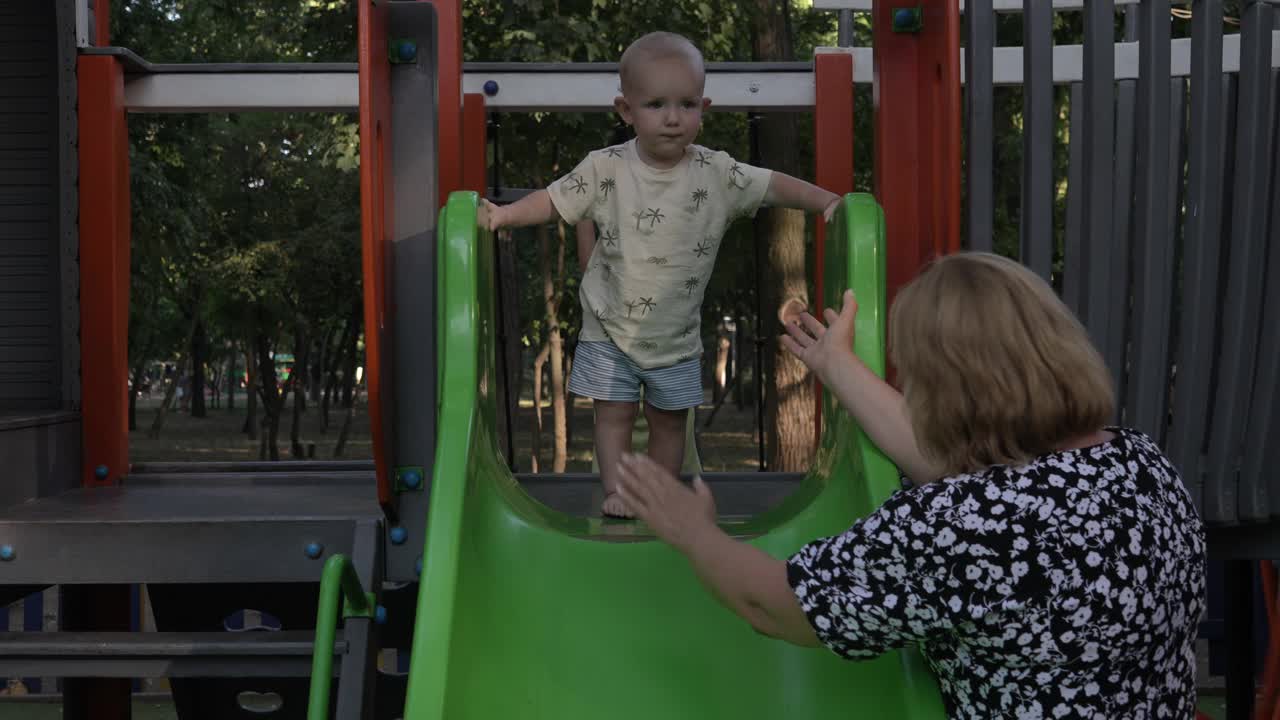
[[[347,652],[338,633],[335,656]],[[314,641],[310,630],[0,633],[0,678],[308,678]]]

